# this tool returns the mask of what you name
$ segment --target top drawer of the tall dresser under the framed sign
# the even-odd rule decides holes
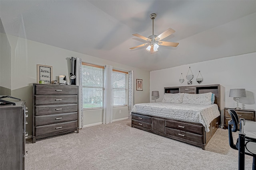
[[[35,85],[35,94],[71,95],[78,94],[77,86],[72,85]]]

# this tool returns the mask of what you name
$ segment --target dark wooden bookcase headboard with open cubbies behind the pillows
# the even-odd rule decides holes
[[[218,105],[221,111],[224,107],[224,88],[220,84],[210,84],[202,86],[178,86],[178,87],[165,87],[164,93],[190,93],[202,94],[212,92],[215,95],[214,103]],[[222,96],[223,94],[223,96]]]

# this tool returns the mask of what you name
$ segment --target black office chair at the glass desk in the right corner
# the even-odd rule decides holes
[[[232,136],[232,132],[236,132],[238,130],[238,122],[239,122],[238,115],[237,115],[236,111],[233,109],[228,109],[228,113],[231,116],[231,120],[228,121],[229,145],[232,149],[238,150],[238,139],[239,138],[236,140],[236,145],[234,145],[233,136]],[[240,120],[240,129],[241,129],[241,120]],[[256,170],[256,154],[255,154],[256,148],[255,147],[256,147],[256,145],[254,142],[245,139],[244,154],[253,156],[252,170]]]

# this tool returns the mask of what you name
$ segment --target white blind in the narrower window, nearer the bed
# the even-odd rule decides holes
[[[112,71],[112,105],[128,105],[128,72]]]

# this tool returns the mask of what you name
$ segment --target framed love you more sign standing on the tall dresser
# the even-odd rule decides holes
[[[52,82],[52,66],[40,65],[37,66],[37,83],[44,81],[44,83],[50,84]]]

